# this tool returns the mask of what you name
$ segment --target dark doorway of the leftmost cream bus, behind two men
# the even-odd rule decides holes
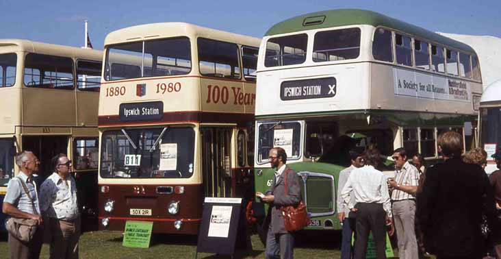
[[[68,136],[23,136],[22,147],[32,151],[40,160],[38,175],[40,180],[44,180],[53,172],[51,159],[58,153],[68,152]],[[42,182],[37,181],[37,184],[40,188]]]

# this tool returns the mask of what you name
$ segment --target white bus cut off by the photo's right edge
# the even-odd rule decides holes
[[[496,160],[491,156],[501,150],[501,79],[493,82],[480,99],[480,147],[487,152],[485,173],[498,170]]]

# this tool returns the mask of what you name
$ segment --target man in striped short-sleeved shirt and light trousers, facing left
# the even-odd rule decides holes
[[[402,259],[418,259],[418,242],[415,239],[415,192],[418,190],[420,173],[407,161],[407,152],[400,147],[391,157],[395,161],[395,179],[388,180],[392,189],[393,215],[398,238],[398,256]]]

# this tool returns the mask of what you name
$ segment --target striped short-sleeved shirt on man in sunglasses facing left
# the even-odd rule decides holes
[[[418,186],[419,180],[420,172],[409,161],[405,162],[402,169],[395,171],[395,182],[398,185]],[[415,199],[415,195],[397,189],[391,192],[391,201],[402,201],[404,199]]]

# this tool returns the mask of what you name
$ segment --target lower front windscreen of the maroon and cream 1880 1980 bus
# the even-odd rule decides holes
[[[101,177],[188,178],[193,174],[191,127],[110,130],[101,143]]]

